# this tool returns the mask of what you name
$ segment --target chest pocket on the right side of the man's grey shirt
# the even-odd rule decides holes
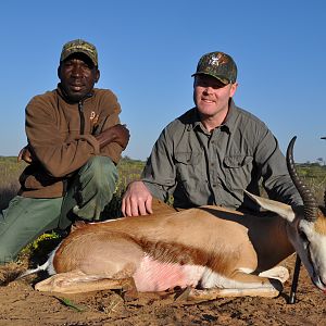
[[[246,155],[225,156],[225,181],[229,189],[246,189],[251,180],[253,158]]]

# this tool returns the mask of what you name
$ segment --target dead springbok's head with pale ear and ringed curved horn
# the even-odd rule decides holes
[[[326,293],[326,217],[293,162],[293,137],[287,149],[287,166],[290,177],[300,193],[303,206],[290,206],[249,192],[262,208],[275,212],[286,220],[288,238],[305,266],[313,284]],[[326,211],[326,210],[325,210]]]

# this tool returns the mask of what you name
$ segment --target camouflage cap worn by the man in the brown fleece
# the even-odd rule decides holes
[[[98,51],[97,48],[83,39],[75,39],[66,42],[61,52],[60,62],[67,59],[73,53],[84,53],[91,62],[98,66]]]

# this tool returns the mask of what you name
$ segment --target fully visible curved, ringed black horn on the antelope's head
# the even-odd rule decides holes
[[[299,177],[297,173],[297,168],[293,161],[293,146],[297,136],[294,136],[287,149],[287,166],[290,174],[290,177],[297,187],[304,205],[304,218],[310,222],[314,222],[317,218],[317,203],[316,200],[306,185],[303,184],[302,179]]]

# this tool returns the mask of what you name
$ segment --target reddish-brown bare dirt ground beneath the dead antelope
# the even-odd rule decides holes
[[[293,273],[294,255],[283,262]],[[175,293],[140,293],[125,301],[105,290],[84,294],[51,294],[34,290],[35,276],[4,284],[24,266],[0,268],[2,325],[326,325],[325,294],[301,267],[297,303],[288,304],[290,281],[278,298],[224,298],[209,302],[174,301]]]

